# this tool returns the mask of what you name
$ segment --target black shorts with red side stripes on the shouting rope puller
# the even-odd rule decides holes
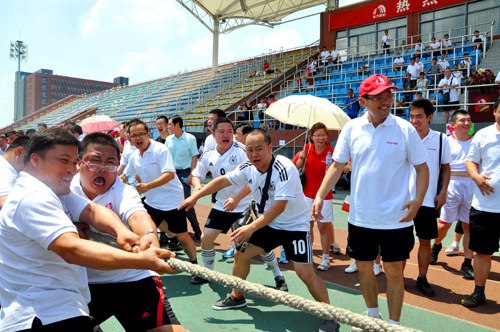
[[[145,331],[163,325],[180,325],[163,292],[159,277],[133,282],[89,285],[91,315],[97,324],[111,316],[125,331]]]

